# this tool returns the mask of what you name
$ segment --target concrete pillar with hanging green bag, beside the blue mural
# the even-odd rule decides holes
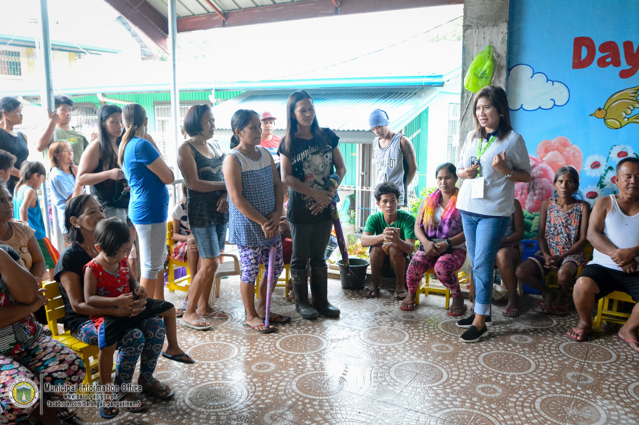
[[[506,87],[507,50],[508,50],[508,13],[509,0],[465,0],[463,41],[461,49],[461,75],[465,76],[470,62],[488,45],[493,46],[492,85]],[[461,81],[461,110],[459,112],[459,148],[466,134],[475,128],[473,120],[473,96]],[[458,158],[456,159],[458,161]]]

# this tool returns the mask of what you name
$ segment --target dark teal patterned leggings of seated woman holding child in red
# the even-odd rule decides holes
[[[140,358],[140,376],[150,380],[162,351],[165,335],[166,328],[160,317],[145,319],[139,328],[128,331],[118,341],[115,384],[131,383],[138,357]],[[73,336],[84,343],[98,345],[98,329],[91,321],[84,322],[73,332]]]

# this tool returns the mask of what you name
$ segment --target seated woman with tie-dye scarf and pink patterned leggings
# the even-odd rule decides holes
[[[438,189],[422,201],[415,222],[415,235],[421,242],[406,272],[408,296],[399,306],[402,310],[415,308],[415,293],[424,273],[435,269],[435,276],[450,289],[452,304],[449,316],[461,316],[466,312],[464,298],[459,289],[457,270],[466,260],[464,231],[457,203],[459,189],[456,169],[446,162],[435,171]]]

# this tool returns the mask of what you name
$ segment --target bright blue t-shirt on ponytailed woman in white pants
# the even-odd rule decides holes
[[[150,141],[132,138],[124,148],[122,171],[131,188],[128,218],[134,224],[166,222],[169,215],[169,189],[147,166],[158,159]]]

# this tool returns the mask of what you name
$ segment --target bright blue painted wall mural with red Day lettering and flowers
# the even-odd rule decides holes
[[[615,166],[639,157],[639,8],[627,2],[511,0],[508,101],[532,180],[515,185],[535,238],[557,169],[580,173],[575,198],[617,192]],[[552,10],[552,13],[548,11]]]

